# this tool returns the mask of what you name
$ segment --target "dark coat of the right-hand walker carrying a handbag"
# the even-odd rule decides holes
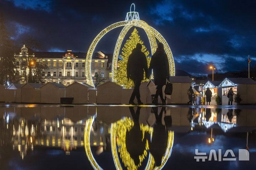
[[[168,58],[164,50],[157,50],[152,56],[149,65],[149,73],[151,73],[152,69],[155,85],[165,85],[166,77],[170,76],[170,71]]]

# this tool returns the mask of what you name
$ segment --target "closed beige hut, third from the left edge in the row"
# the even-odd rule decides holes
[[[22,103],[40,103],[41,91],[40,83],[26,83],[21,87],[21,102]]]

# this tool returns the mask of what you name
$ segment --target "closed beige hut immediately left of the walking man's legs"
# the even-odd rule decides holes
[[[122,86],[107,81],[97,87],[97,104],[121,104]]]

